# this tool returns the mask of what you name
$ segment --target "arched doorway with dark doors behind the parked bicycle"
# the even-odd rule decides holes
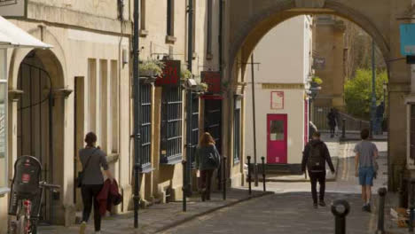
[[[21,56],[23,51],[14,52],[15,58]],[[14,162],[20,155],[35,156],[43,164],[42,179],[63,187],[64,72],[51,50],[25,52],[20,61],[16,58],[12,60],[17,73],[11,73],[12,81],[9,82],[11,161]],[[63,224],[63,196],[53,199],[51,193],[47,193],[43,199],[46,201],[43,218],[51,223]]]

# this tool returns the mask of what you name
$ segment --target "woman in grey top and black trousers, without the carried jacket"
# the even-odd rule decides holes
[[[104,168],[106,177],[111,183],[114,182],[114,176],[108,170],[106,153],[95,146],[97,143],[97,135],[93,132],[88,133],[85,136],[85,143],[85,148],[79,151],[79,158],[82,162],[81,191],[83,202],[82,223],[79,233],[85,233],[92,206],[94,207],[95,233],[100,233],[101,214],[99,214],[98,194],[104,184],[104,176],[102,175],[101,168]]]

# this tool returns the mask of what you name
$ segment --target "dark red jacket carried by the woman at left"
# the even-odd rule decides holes
[[[105,215],[106,211],[111,212],[113,206],[117,206],[121,203],[122,197],[118,191],[118,183],[114,180],[111,183],[109,179],[106,179],[102,190],[99,192],[98,197],[99,214]]]

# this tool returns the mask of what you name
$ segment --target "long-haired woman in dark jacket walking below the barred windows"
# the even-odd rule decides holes
[[[215,140],[205,132],[200,138],[196,149],[196,168],[200,170],[200,194],[202,201],[210,200],[212,176],[216,168],[221,165],[221,156],[217,152]]]

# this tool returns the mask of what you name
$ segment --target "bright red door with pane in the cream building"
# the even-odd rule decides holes
[[[267,116],[267,163],[286,164],[287,155],[287,116],[268,114]]]

